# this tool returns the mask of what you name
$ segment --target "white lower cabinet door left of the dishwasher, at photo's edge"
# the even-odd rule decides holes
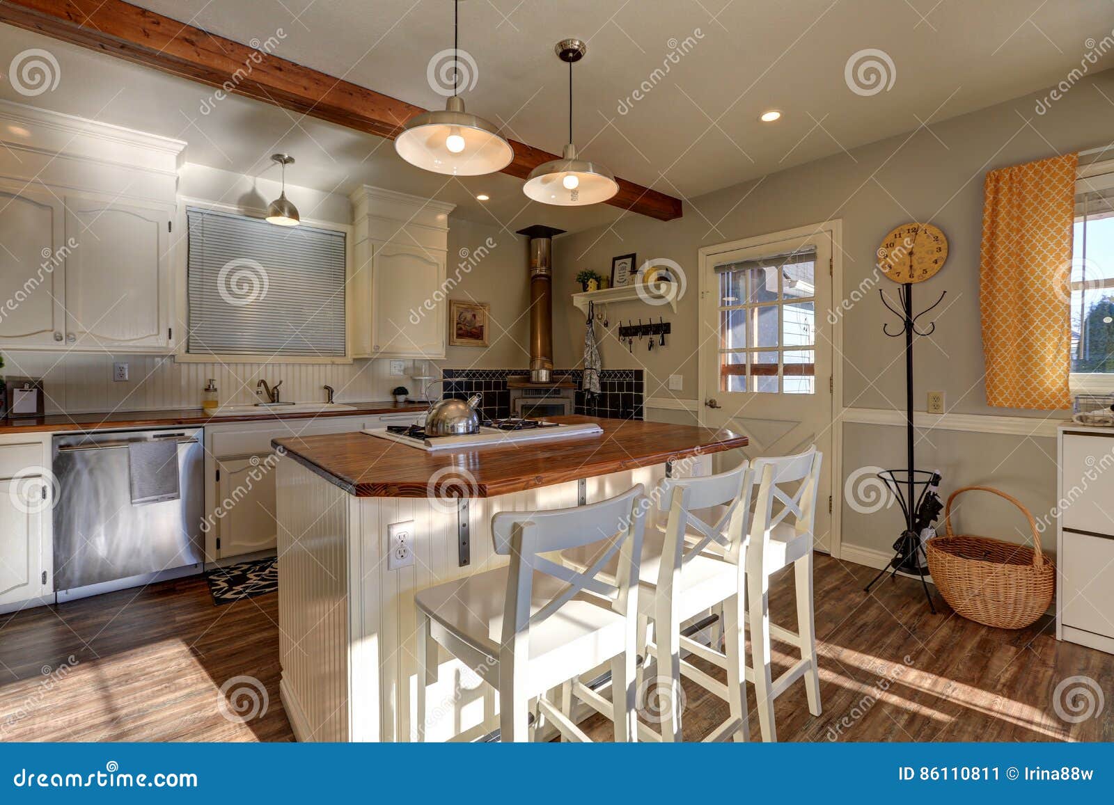
[[[50,514],[46,482],[0,481],[0,603],[26,601],[50,590],[42,518]]]

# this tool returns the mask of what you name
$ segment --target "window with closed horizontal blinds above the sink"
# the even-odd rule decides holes
[[[189,353],[344,356],[344,233],[186,215]]]

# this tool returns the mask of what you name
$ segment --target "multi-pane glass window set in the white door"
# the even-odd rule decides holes
[[[815,251],[716,266],[720,391],[814,394]]]

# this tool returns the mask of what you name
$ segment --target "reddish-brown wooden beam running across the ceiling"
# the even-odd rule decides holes
[[[80,45],[179,78],[394,139],[424,109],[335,78],[124,0],[0,0],[0,22]],[[515,158],[502,169],[520,179],[557,155],[510,140]],[[616,179],[607,204],[659,220],[680,218],[680,198]]]

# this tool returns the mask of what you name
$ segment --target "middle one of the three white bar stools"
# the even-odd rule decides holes
[[[638,610],[639,650],[653,651],[657,659],[657,696],[661,701],[658,734],[638,724],[643,739],[681,740],[681,676],[729,703],[730,716],[705,738],[747,740],[745,658],[743,638],[746,592],[746,522],[750,514],[752,470],[741,467],[704,478],[666,479],[654,490],[658,510],[667,511],[664,527],[647,530],[643,541]],[[716,510],[720,517],[710,526],[694,514]],[[575,568],[598,563],[598,552],[590,547],[561,553],[561,561]],[[615,572],[612,567],[605,572]],[[712,608],[723,607],[724,652],[681,635],[681,625]],[[646,625],[653,621],[654,640]],[[682,659],[685,650],[709,659],[727,671],[727,684]],[[644,657],[646,655],[644,654]],[[639,677],[641,675],[639,668]],[[639,679],[639,696],[643,683]],[[664,693],[664,695],[663,695]],[[582,681],[565,686],[563,704],[566,716],[576,699],[610,717],[610,704]]]

